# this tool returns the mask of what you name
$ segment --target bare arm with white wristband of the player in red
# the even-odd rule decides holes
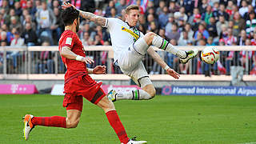
[[[82,57],[78,54],[74,54],[74,52],[68,46],[63,46],[60,54],[64,58],[68,58],[68,59],[73,59],[73,60],[86,62],[86,63],[93,63],[94,62],[94,60],[92,60],[91,58],[85,58],[85,57]]]

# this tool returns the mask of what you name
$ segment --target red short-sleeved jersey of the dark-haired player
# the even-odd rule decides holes
[[[83,50],[82,42],[79,40],[78,35],[71,30],[65,30],[62,33],[62,36],[58,42],[58,50],[60,52],[62,51],[63,46],[70,47],[70,50],[73,51],[74,54],[86,57],[86,54]],[[64,62],[67,69],[65,74],[65,82],[68,78],[74,75],[82,73],[88,74],[88,71],[86,70],[86,62],[71,60],[64,57],[62,57],[62,62]]]

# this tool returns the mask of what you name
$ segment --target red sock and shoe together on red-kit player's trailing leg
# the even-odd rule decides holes
[[[54,126],[66,128],[66,118],[60,116],[53,117],[34,117],[31,114],[26,114],[24,117],[24,138],[28,140],[31,130],[34,126]]]

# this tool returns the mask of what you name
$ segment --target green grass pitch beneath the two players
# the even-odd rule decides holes
[[[66,116],[62,96],[0,95],[0,143],[119,143],[106,115],[84,100],[77,128],[36,126],[25,142],[22,116]],[[149,144],[256,143],[256,97],[156,96],[114,103],[128,136]]]

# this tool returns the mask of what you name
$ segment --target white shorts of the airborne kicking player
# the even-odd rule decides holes
[[[139,38],[133,45],[129,46],[128,50],[122,51],[118,56],[118,66],[122,73],[130,76],[138,86],[141,86],[138,82],[140,78],[149,77],[142,62],[148,47],[145,40]],[[152,84],[152,82],[148,84]]]

